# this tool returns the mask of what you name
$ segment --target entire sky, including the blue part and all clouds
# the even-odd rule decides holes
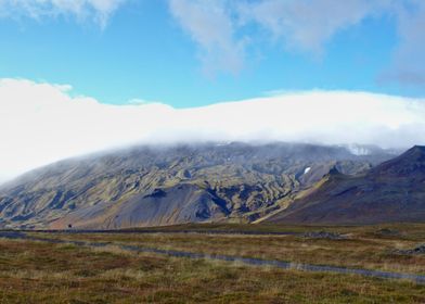
[[[0,182],[133,143],[425,143],[425,1],[0,0]]]

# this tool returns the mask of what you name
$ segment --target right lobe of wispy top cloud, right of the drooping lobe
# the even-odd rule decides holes
[[[255,22],[287,48],[311,53],[339,30],[353,26],[383,8],[370,0],[262,0],[239,5],[245,22]]]

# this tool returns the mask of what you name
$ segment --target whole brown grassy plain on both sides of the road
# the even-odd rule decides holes
[[[228,229],[195,226],[191,230]],[[424,241],[425,225],[259,227],[263,231],[334,231],[346,239],[301,235],[34,233],[110,242],[98,248],[0,239],[0,303],[424,303],[425,286],[352,275],[311,274],[240,263],[134,253],[119,244],[226,253],[312,264],[424,273],[422,255],[396,254]],[[232,226],[246,231],[252,226]]]

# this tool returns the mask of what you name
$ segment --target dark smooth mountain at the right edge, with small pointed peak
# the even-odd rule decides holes
[[[266,221],[377,224],[425,221],[425,147],[413,147],[358,176],[331,170]]]

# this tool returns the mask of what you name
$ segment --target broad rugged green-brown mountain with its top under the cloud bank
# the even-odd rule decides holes
[[[0,188],[0,227],[254,221],[286,207],[331,168],[360,174],[394,156],[361,151],[233,142],[134,147],[66,160]]]

